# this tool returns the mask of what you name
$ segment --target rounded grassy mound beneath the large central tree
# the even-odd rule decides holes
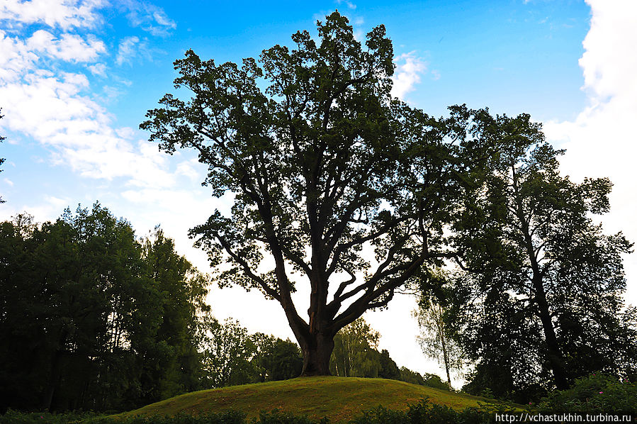
[[[325,416],[332,423],[338,423],[378,405],[404,410],[408,403],[418,403],[424,397],[432,403],[441,403],[456,410],[478,406],[478,401],[487,401],[477,396],[403,381],[320,376],[195,391],[118,416],[219,413],[235,409],[253,417],[259,411],[278,408],[314,419]]]

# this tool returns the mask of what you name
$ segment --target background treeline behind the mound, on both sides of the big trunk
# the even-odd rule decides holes
[[[99,203],[55,222],[0,223],[0,264],[2,411],[124,411],[303,368],[295,342],[213,318],[209,277],[161,228],[137,238]],[[378,352],[372,333],[362,320],[339,333],[335,362],[348,368],[335,374],[426,383]]]

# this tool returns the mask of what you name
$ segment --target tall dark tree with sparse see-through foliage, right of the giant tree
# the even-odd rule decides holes
[[[609,211],[611,183],[560,175],[563,151],[546,143],[529,115],[458,108],[456,117],[458,137],[489,157],[454,226],[466,273],[453,291],[463,294],[458,322],[478,362],[475,378],[490,369],[487,379],[499,372],[511,388],[536,381],[565,389],[594,370],[619,372],[617,359],[635,340],[626,340],[635,331],[620,313],[621,255],[631,243],[592,221]]]

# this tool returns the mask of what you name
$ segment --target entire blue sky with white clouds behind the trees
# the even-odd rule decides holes
[[[573,179],[615,183],[609,232],[637,241],[633,158],[637,117],[637,6],[633,0],[220,2],[3,0],[0,3],[0,218],[55,219],[96,200],[144,235],[157,223],[207,271],[186,231],[215,207],[189,152],[158,152],[137,129],[172,89],[188,48],[217,62],[256,57],[338,9],[357,37],[383,23],[393,40],[396,96],[435,116],[466,103],[531,113],[568,149]],[[637,303],[636,255],[626,258]],[[238,289],[210,296],[220,318],[291,337],[278,306]],[[400,365],[436,371],[414,340],[411,299],[368,314]],[[300,308],[303,309],[303,308]],[[253,311],[263,311],[261,316]],[[397,325],[401,330],[395,330]]]

